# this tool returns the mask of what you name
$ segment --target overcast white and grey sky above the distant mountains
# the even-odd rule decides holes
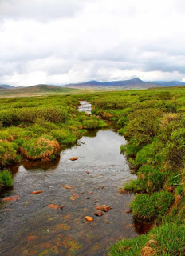
[[[0,0],[0,84],[185,81],[184,0]]]

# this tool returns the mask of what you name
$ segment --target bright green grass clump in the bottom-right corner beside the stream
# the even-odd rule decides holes
[[[163,223],[148,234],[123,239],[112,246],[110,256],[184,256],[185,225]]]

